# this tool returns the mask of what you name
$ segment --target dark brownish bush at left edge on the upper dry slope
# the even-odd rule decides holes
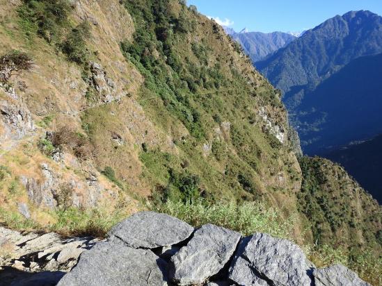
[[[8,82],[13,72],[30,71],[33,60],[26,53],[12,51],[0,57],[0,81]]]

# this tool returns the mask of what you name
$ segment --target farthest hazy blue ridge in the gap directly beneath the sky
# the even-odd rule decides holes
[[[296,39],[294,35],[282,32],[273,33],[232,33],[231,37],[239,42],[253,62],[264,60],[278,49]]]

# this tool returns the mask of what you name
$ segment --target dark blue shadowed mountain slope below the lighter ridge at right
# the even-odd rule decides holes
[[[382,53],[353,60],[305,94],[297,130],[308,154],[382,132]]]

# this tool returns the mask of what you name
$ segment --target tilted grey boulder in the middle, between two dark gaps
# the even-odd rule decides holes
[[[217,274],[234,254],[241,235],[235,231],[206,224],[170,262],[170,278],[177,285],[204,283]]]

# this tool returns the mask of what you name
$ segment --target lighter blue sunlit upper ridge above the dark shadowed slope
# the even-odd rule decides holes
[[[256,67],[287,95],[294,87],[319,83],[355,58],[381,52],[382,17],[351,11],[306,31]]]

